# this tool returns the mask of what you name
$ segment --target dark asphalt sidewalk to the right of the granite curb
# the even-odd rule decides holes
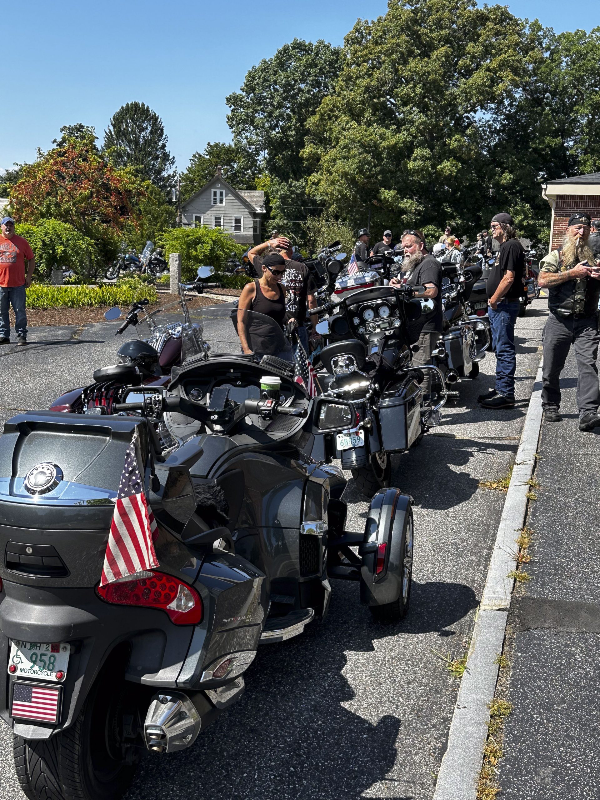
[[[562,422],[542,422],[530,503],[531,579],[510,609],[506,800],[600,797],[600,428],[578,430],[577,366],[561,378]]]

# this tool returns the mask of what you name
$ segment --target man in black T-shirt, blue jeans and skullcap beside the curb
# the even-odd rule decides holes
[[[525,250],[518,241],[510,214],[496,214],[490,230],[494,241],[500,245],[486,282],[487,312],[496,353],[496,385],[489,394],[480,395],[478,401],[485,408],[514,408],[514,372],[517,369],[514,323],[524,291]]]

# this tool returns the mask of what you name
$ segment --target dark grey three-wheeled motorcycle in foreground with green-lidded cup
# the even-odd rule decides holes
[[[411,498],[378,492],[365,530],[347,532],[345,479],[308,455],[356,409],[306,396],[269,318],[234,320],[271,342],[258,362],[258,344],[240,353],[232,310],[207,311],[222,354],[203,339],[169,390],[4,426],[0,716],[30,800],[115,800],[148,751],[191,746],[240,697],[260,643],[326,615],[332,578],[357,582],[376,618],[406,614]],[[191,429],[170,450],[147,424],[166,410]],[[132,443],[159,566],[100,586]]]

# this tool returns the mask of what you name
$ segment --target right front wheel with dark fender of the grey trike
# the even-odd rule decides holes
[[[402,593],[404,538],[413,498],[391,487],[374,494],[366,517],[365,534],[358,546],[361,566],[361,602],[386,606]],[[383,565],[378,572],[378,554]]]

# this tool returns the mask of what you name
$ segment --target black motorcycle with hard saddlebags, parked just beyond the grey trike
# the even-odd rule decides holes
[[[323,438],[322,458],[340,458],[367,498],[389,485],[390,454],[418,444],[440,421],[446,396],[454,394],[438,366],[411,363],[408,323],[434,309],[433,301],[418,298],[423,292],[422,286],[356,291],[317,325],[329,342],[320,353],[331,376],[323,394],[351,400],[357,411],[351,425],[340,424],[335,436]],[[422,395],[424,370],[433,371],[442,386],[435,406],[426,406]]]

